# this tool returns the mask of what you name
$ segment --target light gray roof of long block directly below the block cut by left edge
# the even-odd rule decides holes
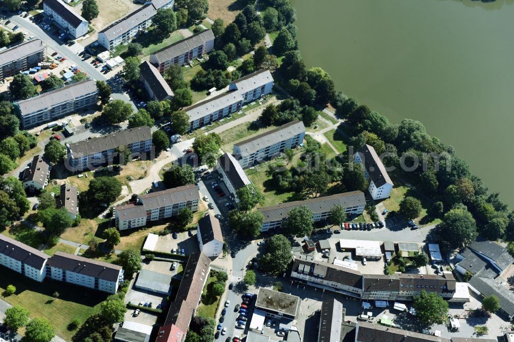
[[[21,115],[25,116],[97,91],[98,89],[95,81],[84,80],[56,90],[42,93],[39,96],[27,100],[16,101],[15,104],[19,106]]]

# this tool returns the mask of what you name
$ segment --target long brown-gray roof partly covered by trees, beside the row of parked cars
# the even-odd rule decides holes
[[[287,218],[292,208],[305,205],[313,214],[324,213],[335,205],[342,205],[344,208],[365,205],[366,200],[361,191],[352,191],[332,196],[310,198],[305,201],[293,201],[278,205],[271,205],[259,208],[263,214],[263,222],[279,221]]]

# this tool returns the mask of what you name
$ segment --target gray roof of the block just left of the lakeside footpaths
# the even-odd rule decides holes
[[[241,150],[241,155],[244,156],[252,154],[267,146],[288,140],[301,133],[305,133],[305,126],[302,121],[296,120],[264,132],[258,136],[240,141],[234,144],[234,146],[238,146]]]

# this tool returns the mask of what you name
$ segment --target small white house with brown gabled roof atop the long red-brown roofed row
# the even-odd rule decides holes
[[[223,253],[222,228],[212,211],[198,221],[196,237],[200,252],[208,257],[217,257]]]

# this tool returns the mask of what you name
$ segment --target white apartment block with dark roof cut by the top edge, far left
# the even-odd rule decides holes
[[[74,38],[87,34],[87,20],[61,0],[44,0],[43,10],[51,20],[63,29],[64,33]]]

